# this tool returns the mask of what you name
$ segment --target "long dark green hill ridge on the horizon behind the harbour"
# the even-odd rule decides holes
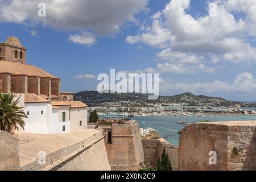
[[[97,91],[82,91],[75,93],[74,99],[82,101],[89,106],[103,105],[126,105],[131,106],[148,106],[159,104],[162,106],[170,106],[172,104],[180,104],[187,106],[234,106],[242,104],[241,102],[228,101],[220,97],[196,96],[192,93],[177,94],[175,96],[159,96],[158,100],[148,100],[148,94],[140,93],[115,93],[100,94]]]

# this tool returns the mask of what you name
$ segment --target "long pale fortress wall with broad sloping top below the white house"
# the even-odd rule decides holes
[[[31,135],[37,139],[20,144],[20,170],[108,171],[102,133],[83,130],[63,135]],[[38,163],[38,151],[46,152],[46,164]]]

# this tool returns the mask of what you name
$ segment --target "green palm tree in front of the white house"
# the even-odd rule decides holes
[[[27,118],[24,107],[18,107],[19,98],[14,101],[14,94],[0,94],[0,130],[11,133],[13,129],[19,130],[18,125],[24,129],[23,118]]]

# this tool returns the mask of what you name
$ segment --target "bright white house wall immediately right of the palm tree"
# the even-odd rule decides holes
[[[47,107],[51,107],[49,102],[44,103],[26,103],[25,114],[29,111],[28,118],[24,119],[26,133],[49,134],[47,127],[48,113]],[[43,111],[43,114],[41,114]]]

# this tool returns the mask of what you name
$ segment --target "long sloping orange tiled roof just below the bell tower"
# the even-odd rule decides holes
[[[34,65],[0,61],[0,73],[57,78]]]

